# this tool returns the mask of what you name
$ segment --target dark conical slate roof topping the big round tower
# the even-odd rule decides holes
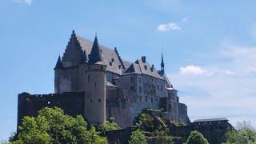
[[[96,62],[102,62],[102,50],[98,45],[98,38],[97,35],[95,35],[94,38],[94,45],[91,48],[90,56],[89,56],[89,64],[94,64]]]

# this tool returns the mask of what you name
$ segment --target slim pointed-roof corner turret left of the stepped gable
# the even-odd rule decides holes
[[[57,63],[54,67],[54,91],[55,94],[60,93],[60,81],[58,78],[62,74],[62,69],[63,69],[63,64],[62,64],[62,59],[61,56],[58,56]]]

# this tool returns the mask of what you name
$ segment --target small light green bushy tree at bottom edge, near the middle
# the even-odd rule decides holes
[[[130,136],[130,144],[147,144],[146,136],[141,130],[135,130]]]

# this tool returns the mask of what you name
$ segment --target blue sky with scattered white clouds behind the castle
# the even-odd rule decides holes
[[[191,120],[256,126],[256,10],[248,1],[0,1],[0,139],[16,128],[17,95],[54,92],[54,65],[72,30],[160,67]]]

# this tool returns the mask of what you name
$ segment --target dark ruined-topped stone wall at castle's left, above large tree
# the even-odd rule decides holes
[[[57,106],[64,110],[65,114],[76,116],[84,111],[84,91],[65,92],[62,94],[18,94],[18,122],[19,126],[24,116],[38,115],[38,111],[44,107]],[[17,126],[17,127],[18,127]]]

